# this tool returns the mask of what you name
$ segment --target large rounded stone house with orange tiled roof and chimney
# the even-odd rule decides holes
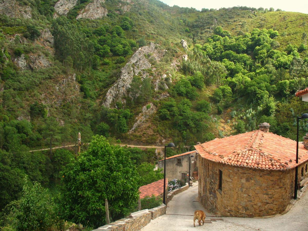
[[[296,141],[269,132],[263,123],[252,132],[196,145],[201,203],[222,216],[261,217],[284,211],[298,183],[307,176],[308,152]]]

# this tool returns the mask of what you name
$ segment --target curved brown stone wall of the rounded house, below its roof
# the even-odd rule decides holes
[[[305,166],[306,163],[298,167],[299,181]],[[222,216],[274,215],[284,211],[293,197],[295,169],[270,171],[234,167],[202,157],[198,167],[200,201],[209,211]],[[222,171],[222,190],[219,189],[219,170]]]

